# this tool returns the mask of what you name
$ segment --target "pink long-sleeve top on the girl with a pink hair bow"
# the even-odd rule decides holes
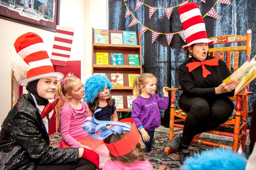
[[[78,148],[81,145],[75,139],[88,137],[88,133],[83,129],[83,124],[85,118],[89,116],[89,109],[84,101],[80,102],[83,105],[83,109],[81,110],[74,109],[69,102],[60,109],[61,137],[67,144],[74,148]]]

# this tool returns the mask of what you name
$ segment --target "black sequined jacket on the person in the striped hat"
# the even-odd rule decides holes
[[[36,164],[76,162],[78,148],[52,148],[42,117],[29,94],[22,94],[2,124],[0,170],[35,169]]]

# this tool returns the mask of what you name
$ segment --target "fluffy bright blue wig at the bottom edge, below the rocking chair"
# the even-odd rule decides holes
[[[220,170],[236,169],[244,170],[246,159],[244,154],[240,155],[228,148],[216,148],[195,153],[194,157],[185,159],[182,170]]]

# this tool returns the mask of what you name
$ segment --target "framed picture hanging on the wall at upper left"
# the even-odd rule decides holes
[[[0,0],[0,18],[55,32],[60,0]]]

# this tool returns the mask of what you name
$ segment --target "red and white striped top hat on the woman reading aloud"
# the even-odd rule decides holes
[[[186,49],[196,43],[213,43],[212,40],[207,38],[204,20],[195,2],[180,6],[178,12],[187,40],[187,45],[183,46],[182,49]]]

